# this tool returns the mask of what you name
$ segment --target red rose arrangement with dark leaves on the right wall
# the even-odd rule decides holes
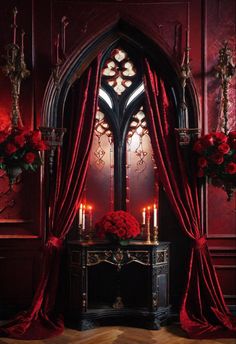
[[[198,154],[198,177],[209,177],[213,185],[225,189],[230,199],[236,188],[236,131],[203,135],[193,150]]]

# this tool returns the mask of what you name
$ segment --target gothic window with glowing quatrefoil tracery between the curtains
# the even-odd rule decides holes
[[[143,108],[140,57],[123,45],[104,56],[90,167],[83,198],[94,221],[110,210],[130,211],[156,203],[158,184]]]

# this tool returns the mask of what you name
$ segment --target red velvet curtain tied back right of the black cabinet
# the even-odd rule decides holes
[[[225,304],[201,228],[196,179],[188,178],[175,141],[173,111],[164,82],[147,60],[144,83],[149,134],[160,180],[181,229],[192,239],[181,326],[192,338],[234,337],[235,319]]]

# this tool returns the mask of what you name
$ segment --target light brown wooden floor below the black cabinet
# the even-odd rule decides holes
[[[236,344],[236,339],[188,339],[175,325],[150,331],[131,327],[100,327],[88,331],[65,329],[61,336],[34,341],[0,338],[0,344]]]

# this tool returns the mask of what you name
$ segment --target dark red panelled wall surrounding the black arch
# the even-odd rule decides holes
[[[26,32],[25,59],[31,70],[31,76],[22,83],[20,98],[23,122],[27,128],[40,125],[44,93],[55,62],[54,42],[63,16],[67,16],[70,22],[66,30],[68,56],[76,49],[88,46],[122,18],[151,37],[176,60],[184,47],[188,8],[191,69],[199,100],[199,125],[205,132],[217,128],[220,88],[213,69],[223,41],[228,40],[232,47],[235,46],[234,0],[1,1],[1,54],[5,45],[12,41],[10,25],[14,6],[19,11],[17,23]],[[230,97],[232,120],[235,116],[235,93],[232,90]],[[0,111],[9,112],[10,107],[10,84],[1,73]],[[231,122],[235,129],[235,121]],[[0,276],[4,281],[0,283],[0,304],[24,307],[34,292],[44,243],[43,171],[23,178],[13,191],[6,191],[7,182],[0,177]],[[222,190],[208,186],[203,196],[202,216],[226,301],[236,305],[233,283],[236,200],[227,202]]]

